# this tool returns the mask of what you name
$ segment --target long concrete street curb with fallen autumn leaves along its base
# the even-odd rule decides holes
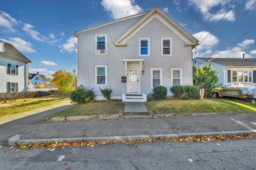
[[[56,139],[28,139],[28,140],[20,140],[20,135],[15,135],[11,137],[8,141],[10,146],[15,145],[35,145],[42,143],[50,143],[51,141],[55,142],[70,142],[70,141],[133,141],[137,140],[149,140],[149,139],[174,139],[174,138],[182,138],[182,137],[198,137],[198,136],[214,136],[214,135],[240,135],[240,134],[248,134],[255,133],[256,130],[248,130],[248,131],[223,131],[223,132],[204,132],[204,133],[180,133],[180,134],[159,134],[159,135],[129,135],[129,136],[110,136],[110,137],[74,137],[74,138],[56,138]]]

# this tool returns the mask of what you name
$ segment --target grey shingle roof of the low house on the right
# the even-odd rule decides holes
[[[194,59],[202,59],[204,61],[212,62],[212,63],[217,63],[223,66],[256,66],[256,58],[250,58],[250,59],[232,59],[232,58],[201,58],[201,57],[196,57]]]

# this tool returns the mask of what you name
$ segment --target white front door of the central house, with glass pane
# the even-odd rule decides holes
[[[139,92],[139,77],[138,77],[138,69],[129,69],[129,84],[128,84],[128,92],[129,93],[138,93]]]

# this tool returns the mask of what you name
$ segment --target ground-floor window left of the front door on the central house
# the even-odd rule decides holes
[[[108,86],[107,65],[95,65],[95,86]]]

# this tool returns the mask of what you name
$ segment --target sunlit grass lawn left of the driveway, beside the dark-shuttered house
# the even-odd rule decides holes
[[[56,94],[38,98],[14,99],[8,102],[2,101],[0,102],[0,117],[58,104],[64,100],[67,100],[67,96]]]

